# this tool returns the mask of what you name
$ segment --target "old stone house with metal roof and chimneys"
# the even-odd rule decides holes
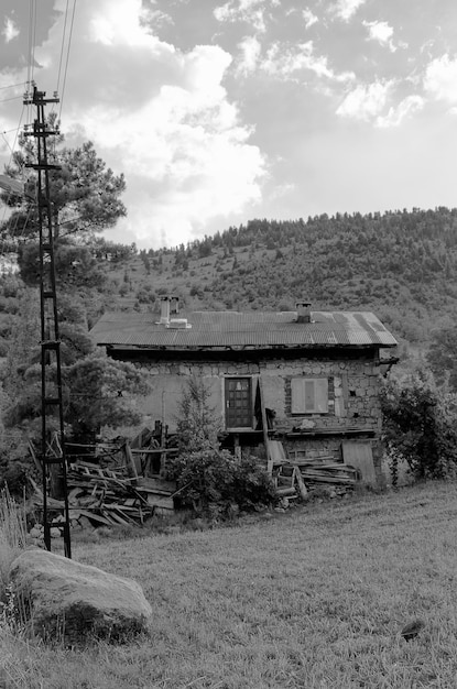
[[[196,374],[231,447],[280,439],[285,453],[341,457],[369,448],[381,457],[381,374],[395,362],[394,337],[369,311],[178,313],[163,298],[161,316],[107,313],[93,337],[108,356],[144,368],[152,393],[146,422],[173,430],[183,383]],[[272,446],[273,447],[273,446]]]

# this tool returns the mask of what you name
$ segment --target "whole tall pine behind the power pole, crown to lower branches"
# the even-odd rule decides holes
[[[106,167],[88,142],[76,149],[62,149],[62,138],[48,142],[50,162],[62,169],[50,172],[54,215],[54,258],[57,282],[57,307],[61,335],[64,420],[68,436],[93,440],[100,426],[138,423],[141,418],[134,396],[148,390],[146,376],[132,364],[117,362],[95,351],[88,335],[87,305],[96,300],[96,289],[104,286],[91,249],[94,233],[112,226],[126,215],[120,195],[126,187],[123,175]],[[33,143],[21,139],[7,172],[20,176],[28,160],[35,156]],[[29,185],[33,184],[33,175]],[[26,236],[19,248],[21,276],[29,286],[40,282],[36,204],[20,197],[6,200],[15,212],[17,229]],[[58,223],[57,223],[58,221]],[[8,228],[7,228],[8,229]],[[6,226],[3,226],[6,230]],[[84,241],[83,241],[84,237]],[[97,250],[100,248],[97,243]],[[132,244],[129,253],[137,251]],[[41,348],[37,294],[22,303],[14,341],[8,352],[9,370],[3,380],[8,395],[4,423],[19,427],[32,437],[41,433]],[[31,307],[33,303],[33,307]],[[45,368],[48,390],[56,384],[56,367]],[[50,427],[53,417],[50,416]],[[56,419],[57,420],[57,419]],[[56,427],[58,424],[56,423]]]

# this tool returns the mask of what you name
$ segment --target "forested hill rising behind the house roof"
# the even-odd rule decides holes
[[[106,309],[157,311],[164,294],[239,310],[293,309],[306,297],[315,309],[373,310],[423,348],[457,316],[457,209],[255,219],[174,249],[98,240],[95,255],[106,283],[86,294],[89,325]],[[15,278],[1,283],[0,320],[19,291]]]

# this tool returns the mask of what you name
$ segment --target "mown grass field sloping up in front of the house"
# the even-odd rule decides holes
[[[65,649],[2,635],[1,687],[457,687],[457,485],[313,503],[209,532],[75,544],[137,579],[151,633]],[[421,617],[410,643],[399,634]],[[3,681],[3,683],[2,683]]]

